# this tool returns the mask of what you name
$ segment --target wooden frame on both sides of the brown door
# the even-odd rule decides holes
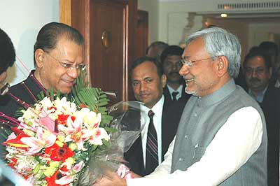
[[[80,31],[85,38],[85,64],[87,64],[87,74],[90,74],[90,1],[91,0],[59,0],[59,20],[69,24]],[[130,63],[134,60],[135,50],[134,34],[137,27],[137,0],[111,0],[127,3],[125,19],[125,52],[124,52],[124,79],[123,79],[123,100],[128,100],[128,90],[132,87],[129,84]],[[90,76],[87,76],[90,82]]]

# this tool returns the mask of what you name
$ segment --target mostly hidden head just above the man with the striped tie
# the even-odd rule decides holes
[[[162,51],[165,50],[169,45],[162,41],[155,41],[148,46],[146,50],[146,56],[153,57],[157,60],[160,60],[160,55]]]

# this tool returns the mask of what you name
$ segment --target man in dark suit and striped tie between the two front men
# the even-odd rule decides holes
[[[130,69],[130,78],[134,96],[137,101],[144,103],[146,115],[141,115],[145,118],[144,129],[141,136],[132,145],[132,148],[125,153],[125,159],[130,164],[130,169],[145,176],[151,173],[158,164],[160,164],[164,155],[167,152],[169,143],[172,142],[181,118],[181,113],[178,113],[175,106],[165,101],[163,96],[163,87],[166,85],[166,76],[162,70],[162,64],[150,57],[141,57],[133,62]],[[153,112],[153,117],[148,117],[148,114]],[[151,121],[153,121],[151,124]],[[154,162],[149,160],[148,155],[150,144],[149,132],[150,127],[154,126],[156,131],[157,146]],[[152,166],[152,167],[151,167]]]

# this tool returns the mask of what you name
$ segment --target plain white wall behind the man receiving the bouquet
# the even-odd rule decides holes
[[[0,28],[15,46],[19,60],[8,69],[7,81],[14,85],[27,78],[34,68],[33,46],[39,29],[48,22],[59,22],[59,0],[1,0]]]

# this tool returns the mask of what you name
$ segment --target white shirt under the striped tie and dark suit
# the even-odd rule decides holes
[[[144,157],[144,166],[146,165],[146,143],[147,143],[147,134],[148,134],[148,125],[150,123],[150,118],[148,117],[148,111],[153,110],[155,115],[153,116],[153,124],[155,125],[155,131],[157,131],[158,137],[158,162],[162,162],[162,108],[165,97],[162,95],[160,100],[155,103],[153,108],[148,108],[146,106],[141,106],[141,110],[144,110],[144,115],[141,113],[141,118],[145,118],[144,126],[141,131],[142,138],[142,148],[143,148],[143,157]],[[142,123],[142,122],[141,122]]]

